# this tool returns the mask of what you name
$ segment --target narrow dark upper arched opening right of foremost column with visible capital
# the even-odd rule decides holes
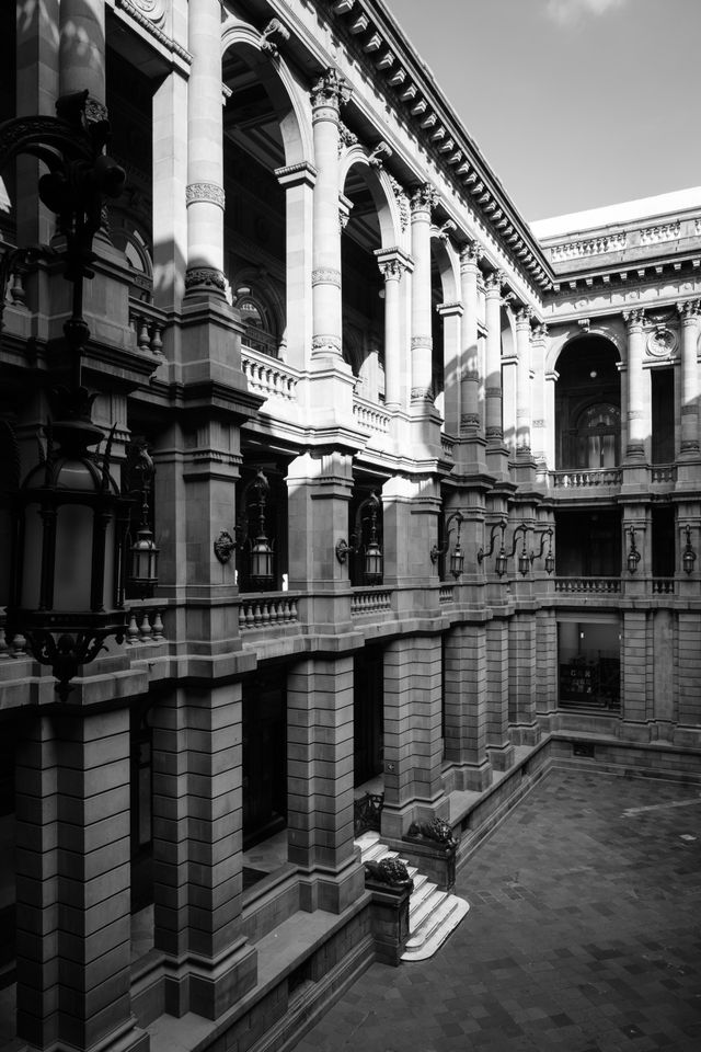
[[[367,165],[352,164],[343,188],[348,220],[341,238],[343,357],[357,377],[355,392],[384,401],[384,283],[375,252],[382,244]]]

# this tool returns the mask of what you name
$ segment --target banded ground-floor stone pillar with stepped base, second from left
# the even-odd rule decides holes
[[[216,1019],[256,982],[241,933],[241,684],[177,688],[153,728],[154,942],[165,1007]]]

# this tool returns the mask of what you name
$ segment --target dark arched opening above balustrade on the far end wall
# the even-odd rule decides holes
[[[555,467],[601,470],[621,459],[618,351],[602,336],[571,341],[558,358]]]

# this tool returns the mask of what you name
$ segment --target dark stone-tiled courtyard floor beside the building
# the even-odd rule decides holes
[[[438,953],[374,964],[296,1052],[698,1052],[700,820],[698,787],[551,771],[460,870]]]

